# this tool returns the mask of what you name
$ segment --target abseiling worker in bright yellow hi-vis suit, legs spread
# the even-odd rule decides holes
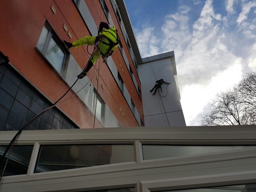
[[[104,29],[104,30],[103,30]],[[86,69],[84,69],[77,77],[79,79],[87,75],[88,71],[92,68],[96,60],[102,57],[112,55],[113,51],[118,47],[119,37],[115,26],[110,26],[105,22],[100,22],[98,36],[84,36],[74,42],[64,41],[68,49],[77,48],[83,45],[95,45],[96,50],[93,52],[91,59],[88,61]]]

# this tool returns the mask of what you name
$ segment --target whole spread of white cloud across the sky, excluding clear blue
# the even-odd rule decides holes
[[[256,18],[247,19],[248,10],[255,1],[247,4],[243,1],[237,22],[241,34],[248,41],[243,38],[239,42],[241,34],[228,31],[229,23],[236,23],[236,19],[230,22],[234,16],[234,1],[226,2],[228,15],[220,15],[215,13],[213,1],[207,0],[200,17],[192,25],[189,23],[190,8],[182,6],[177,13],[165,16],[161,31],[148,27],[137,33],[143,57],[175,51],[181,103],[187,125],[198,125],[200,114],[209,101],[218,92],[238,83],[244,68],[256,68]],[[246,51],[242,53],[240,50],[245,48]]]

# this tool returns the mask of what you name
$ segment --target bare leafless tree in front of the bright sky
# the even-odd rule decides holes
[[[247,73],[233,89],[217,94],[201,124],[256,124],[256,72]]]

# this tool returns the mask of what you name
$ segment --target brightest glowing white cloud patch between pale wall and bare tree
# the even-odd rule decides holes
[[[219,72],[210,79],[207,86],[203,84],[192,84],[185,86],[181,94],[181,103],[186,124],[199,124],[200,117],[204,112],[204,108],[214,99],[218,92],[232,88],[234,83],[238,83],[242,76],[241,59],[238,59],[227,70]]]

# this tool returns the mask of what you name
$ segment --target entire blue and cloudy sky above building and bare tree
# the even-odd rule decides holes
[[[256,70],[256,0],[125,0],[142,57],[175,52],[187,125]]]

